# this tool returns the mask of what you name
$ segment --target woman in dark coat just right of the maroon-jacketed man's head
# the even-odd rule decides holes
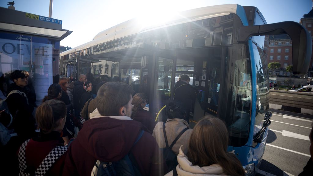
[[[144,93],[136,93],[133,96],[133,101],[131,103],[133,105],[131,109],[131,118],[141,122],[152,134],[156,122],[150,116],[149,112],[143,109],[146,106],[147,101],[147,96]]]

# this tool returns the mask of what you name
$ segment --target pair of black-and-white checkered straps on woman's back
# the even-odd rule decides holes
[[[26,145],[30,141],[28,139],[25,141],[19,151],[18,151],[18,164],[20,168],[19,176],[29,176],[33,175],[27,172],[27,164],[26,164]],[[38,168],[35,171],[35,176],[44,176],[51,166],[67,151],[67,147],[64,146],[56,146],[52,151],[44,158],[44,160],[40,163]]]

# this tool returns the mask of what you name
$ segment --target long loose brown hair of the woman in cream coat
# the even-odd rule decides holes
[[[188,158],[199,167],[219,164],[226,175],[244,175],[244,169],[233,153],[227,153],[228,131],[224,122],[213,115],[205,116],[193,128]]]

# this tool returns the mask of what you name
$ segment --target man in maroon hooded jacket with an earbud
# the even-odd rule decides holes
[[[78,137],[70,144],[63,175],[90,175],[97,160],[115,162],[131,152],[141,175],[167,172],[154,137],[144,132],[135,145],[142,124],[131,120],[131,86],[108,82],[98,91],[97,109],[90,114]]]

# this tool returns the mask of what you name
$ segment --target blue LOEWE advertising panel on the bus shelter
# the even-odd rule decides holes
[[[40,105],[52,84],[53,58],[59,58],[59,41],[9,33],[0,33],[0,38],[0,71],[5,76],[14,70],[28,71],[28,82],[35,89],[36,104]]]

